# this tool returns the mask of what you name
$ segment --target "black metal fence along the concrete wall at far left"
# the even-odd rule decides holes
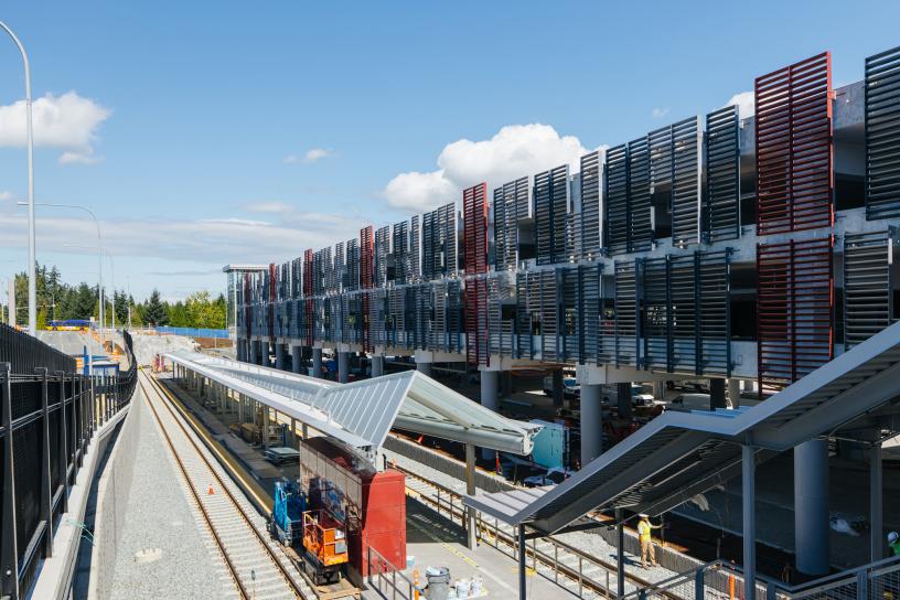
[[[94,432],[128,405],[137,383],[129,368],[83,376],[75,360],[0,325],[0,597],[28,594],[53,532],[68,512],[69,488]]]

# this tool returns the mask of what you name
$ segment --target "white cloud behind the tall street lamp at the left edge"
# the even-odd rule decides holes
[[[47,94],[32,104],[34,144],[64,149],[60,157],[63,164],[98,162],[100,159],[94,156],[97,129],[110,114],[108,108],[75,92],[62,96]],[[0,146],[23,147],[25,141],[25,101],[0,106]]]

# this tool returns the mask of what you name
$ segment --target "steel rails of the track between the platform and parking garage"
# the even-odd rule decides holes
[[[408,469],[405,469],[403,467],[392,465],[392,469],[396,469],[397,471],[400,471],[405,475],[407,475],[409,478],[413,478],[414,480],[416,480],[416,481],[418,481],[420,483],[424,483],[424,484],[428,485],[429,488],[433,488],[433,489],[438,490],[440,492],[440,494],[444,494],[450,499],[459,500],[459,510],[458,510],[457,506],[453,505],[452,500],[451,500],[451,502],[449,504],[444,504],[444,503],[441,503],[440,496],[429,497],[429,496],[422,495],[417,490],[410,488],[410,490],[416,493],[416,497],[421,499],[427,504],[435,506],[436,512],[438,512],[438,514],[441,514],[441,511],[448,512],[448,510],[449,510],[449,512],[452,515],[451,521],[457,522],[457,517],[459,517],[460,525],[462,525],[463,527],[465,526],[465,516],[464,516],[464,513],[462,511],[462,506],[463,506],[463,504],[462,504],[462,494],[460,494],[458,492],[454,492],[453,490],[450,490],[449,488],[446,488],[446,486],[443,486],[443,485],[441,485],[439,483],[435,483],[433,481],[431,481],[431,480],[429,480],[427,478],[424,478],[424,476],[419,475],[418,473],[414,473],[414,472],[411,472]],[[476,523],[478,523],[478,527],[479,527],[479,529],[481,532],[494,536],[495,539],[497,539],[499,542],[502,542],[506,546],[510,546],[511,548],[513,548],[513,550],[515,550],[518,547],[518,543],[516,542],[515,536],[507,533],[507,532],[502,531],[497,524],[494,524],[493,526],[491,526],[481,516],[479,516],[476,518]],[[554,538],[551,536],[544,536],[544,537],[540,538],[540,540],[550,544],[553,546],[553,548],[554,548],[554,551],[553,551],[553,555],[550,555],[550,554],[547,554],[547,553],[545,553],[543,550],[537,549],[537,544],[536,543],[534,543],[531,547],[527,546],[527,544],[526,544],[526,553],[528,555],[531,555],[531,557],[532,557],[533,568],[536,567],[535,561],[539,561],[545,567],[548,567],[549,569],[551,569],[555,574],[562,575],[564,577],[566,577],[567,579],[572,581],[574,583],[578,585],[578,590],[576,592],[575,590],[570,590],[565,586],[560,585],[560,587],[562,587],[564,589],[566,589],[569,592],[577,593],[579,597],[581,597],[581,589],[582,588],[589,588],[594,593],[604,594],[604,597],[607,597],[607,598],[610,598],[610,597],[614,598],[615,597],[615,591],[613,591],[613,589],[607,588],[606,585],[600,583],[598,581],[594,581],[593,579],[591,579],[589,577],[585,577],[583,574],[581,572],[581,567],[583,566],[583,564],[585,562],[590,562],[590,564],[593,564],[593,565],[604,569],[607,572],[615,574],[617,570],[615,570],[615,565],[613,562],[609,562],[609,561],[603,560],[601,558],[590,556],[589,554],[587,554],[587,553],[585,553],[582,550],[579,550],[578,548],[576,548],[576,547],[574,547],[574,546],[571,546],[569,544],[566,544],[565,542],[556,539],[556,538]],[[494,547],[496,547],[496,545],[494,545]],[[570,555],[570,556],[574,556],[574,557],[576,557],[578,559],[578,568],[570,567],[570,566],[562,562],[562,559],[565,558],[565,556],[567,554]],[[547,577],[546,575],[542,574],[537,568],[534,568],[534,570],[535,570],[535,572],[538,572],[543,577],[546,577],[547,579],[549,579],[549,580],[554,581],[555,583],[559,585],[558,579],[556,579],[555,577],[554,578]],[[638,576],[629,574],[629,572],[625,572],[625,578],[630,582],[632,582],[635,587],[638,587],[639,589],[653,586],[652,581],[649,581],[646,579],[643,579],[641,577],[638,577]],[[614,580],[611,581],[611,586],[612,586],[612,588],[614,588]],[[665,598],[668,598],[669,600],[683,600],[682,597],[673,594],[673,593],[663,592],[663,596]]]

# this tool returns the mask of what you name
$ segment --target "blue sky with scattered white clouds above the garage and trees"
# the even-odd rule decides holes
[[[900,44],[896,1],[35,0],[0,20],[52,95],[38,201],[93,207],[117,286],[168,298],[706,113],[823,50],[836,85],[858,81]],[[10,107],[21,65],[0,47]],[[0,280],[26,257],[17,116],[0,108]],[[90,250],[64,247],[93,226],[38,216],[39,260],[95,278]]]

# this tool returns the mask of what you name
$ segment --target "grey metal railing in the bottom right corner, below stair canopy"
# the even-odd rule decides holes
[[[716,560],[622,597],[644,600],[678,598],[743,598],[743,575],[735,565]],[[900,598],[900,556],[886,558],[814,581],[790,586],[758,576],[757,600],[881,600]]]

